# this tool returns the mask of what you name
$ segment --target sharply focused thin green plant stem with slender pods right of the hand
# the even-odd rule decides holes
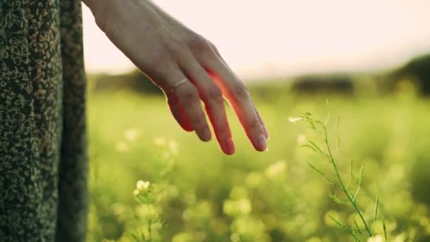
[[[330,115],[329,115],[330,117]],[[340,146],[340,136],[339,136],[339,121],[340,117],[337,118],[337,123],[333,129],[330,130],[330,132],[327,129],[327,122],[329,120],[329,117],[327,117],[327,120],[325,122],[321,122],[320,120],[316,120],[312,117],[310,113],[303,113],[300,117],[290,117],[290,122],[297,122],[297,121],[304,121],[308,125],[310,125],[310,129],[315,131],[318,134],[318,137],[322,139],[322,146],[319,146],[317,142],[313,142],[312,140],[308,140],[306,144],[303,144],[302,147],[309,148],[316,153],[324,156],[327,161],[330,162],[330,165],[333,168],[333,171],[335,175],[328,175],[327,173],[321,171],[319,168],[316,168],[312,163],[307,161],[308,166],[312,168],[314,171],[322,175],[330,184],[334,185],[336,188],[342,191],[344,196],[347,198],[347,200],[341,200],[339,197],[334,195],[331,191],[329,191],[329,197],[337,202],[338,204],[350,204],[352,207],[354,207],[354,210],[359,214],[359,221],[361,221],[361,226],[359,226],[359,223],[357,222],[355,216],[354,218],[354,225],[347,226],[345,224],[342,224],[339,220],[335,219],[334,217],[330,216],[330,219],[335,222],[338,226],[340,226],[342,229],[346,230],[351,234],[351,236],[354,237],[355,241],[361,241],[360,236],[366,236],[366,237],[372,237],[375,233],[375,225],[376,221],[378,220],[378,207],[379,207],[379,197],[376,197],[376,203],[373,211],[373,224],[370,224],[370,221],[366,220],[364,217],[364,214],[357,202],[357,196],[359,195],[359,191],[362,185],[363,181],[363,171],[364,171],[364,164],[361,166],[361,169],[359,171],[359,178],[358,178],[358,186],[355,190],[355,192],[351,192],[350,183],[352,178],[354,177],[354,162],[351,160],[350,165],[350,171],[349,171],[349,178],[347,183],[344,183],[344,180],[342,179],[342,175],[340,175],[339,168],[337,165],[337,161],[335,161],[335,157],[332,151],[332,148],[330,146],[330,134],[333,132],[336,132],[336,142],[337,147]],[[383,231],[385,240],[387,239],[387,233],[386,233],[386,226],[385,226],[385,219],[382,217],[382,223],[383,223]]]

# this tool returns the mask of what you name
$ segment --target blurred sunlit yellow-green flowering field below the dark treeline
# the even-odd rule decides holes
[[[430,241],[430,101],[387,97],[256,97],[271,133],[269,151],[252,150],[229,113],[237,152],[199,142],[170,117],[163,98],[118,91],[88,97],[91,206],[88,241],[354,241],[329,217],[353,225],[354,209],[306,161],[332,167],[310,149],[318,140],[289,117],[312,113],[333,127],[345,179],[364,164],[357,201],[378,236],[361,241]],[[330,143],[337,147],[335,139]],[[356,176],[351,183],[358,183]],[[138,180],[150,183],[139,183]],[[138,197],[136,199],[136,197]]]

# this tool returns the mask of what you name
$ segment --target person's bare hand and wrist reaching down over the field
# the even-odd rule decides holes
[[[208,142],[211,129],[225,154],[235,146],[228,126],[228,100],[257,151],[267,150],[269,133],[248,89],[214,44],[150,0],[83,0],[99,28],[165,93],[180,127]],[[185,83],[175,83],[187,79]],[[202,107],[204,103],[204,107]]]

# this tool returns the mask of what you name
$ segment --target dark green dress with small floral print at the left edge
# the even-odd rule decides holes
[[[84,241],[81,1],[0,0],[0,241]]]

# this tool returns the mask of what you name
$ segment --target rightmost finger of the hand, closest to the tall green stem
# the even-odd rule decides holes
[[[226,98],[233,106],[233,110],[238,115],[240,123],[254,148],[258,151],[266,151],[267,137],[250,98],[248,88],[217,56],[211,59],[205,58],[202,62],[205,69],[210,71],[214,81],[226,94]]]

